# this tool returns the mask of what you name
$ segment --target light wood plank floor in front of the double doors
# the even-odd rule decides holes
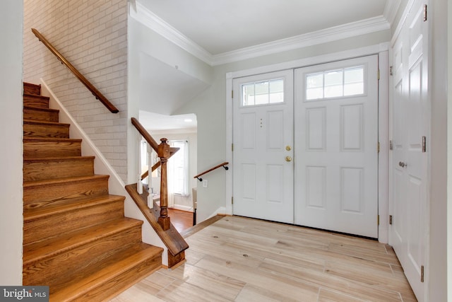
[[[393,249],[374,240],[226,216],[186,241],[184,265],[112,302],[416,301]]]

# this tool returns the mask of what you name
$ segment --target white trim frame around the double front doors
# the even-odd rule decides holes
[[[296,69],[328,62],[364,57],[371,54],[379,56],[379,242],[388,243],[388,156],[389,156],[389,42],[369,47],[323,54],[321,56],[298,59],[290,62],[259,66],[226,73],[226,161],[232,163],[232,80],[243,76],[265,74],[283,69]],[[236,93],[237,95],[237,93]],[[230,166],[231,169],[234,167]],[[231,171],[232,172],[232,171]],[[227,173],[225,183],[225,214],[232,215],[232,175]]]

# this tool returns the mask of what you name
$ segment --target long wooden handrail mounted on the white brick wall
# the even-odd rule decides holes
[[[54,54],[57,59],[59,59],[59,61],[66,65],[67,68],[69,68],[70,71],[72,71],[72,73],[76,76],[76,78],[78,80],[80,80],[83,85],[86,86],[86,88],[88,88],[89,91],[91,91],[91,93],[93,93],[93,95],[95,96],[95,98],[97,100],[100,100],[100,103],[104,104],[105,107],[107,107],[108,110],[110,110],[110,112],[112,113],[118,113],[119,110],[114,107],[114,105],[112,103],[109,102],[109,100],[107,100],[107,98],[105,98],[104,95],[102,95],[102,93],[100,93],[100,91],[98,91],[92,83],[90,83],[90,81],[88,81],[88,79],[85,78],[85,76],[83,76],[77,69],[76,67],[74,67],[71,63],[69,63],[69,61],[63,57],[63,55],[61,53],[59,53],[59,51],[52,45],[52,43],[50,43],[38,30],[36,30],[35,28],[32,28],[31,31],[35,34],[35,36],[50,50],[50,52],[52,52],[52,54]]]

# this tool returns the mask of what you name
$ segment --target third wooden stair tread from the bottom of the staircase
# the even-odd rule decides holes
[[[56,204],[54,206],[48,207],[36,207],[24,209],[23,211],[23,221],[31,221],[35,219],[42,219],[45,216],[56,215],[59,213],[64,213],[67,211],[75,211],[77,209],[83,209],[88,207],[95,207],[99,204],[108,204],[111,202],[117,202],[123,200],[126,197],[120,195],[109,194],[105,197],[85,197],[74,199],[71,202],[66,202],[64,204]]]

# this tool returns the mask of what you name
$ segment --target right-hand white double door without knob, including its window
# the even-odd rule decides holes
[[[295,223],[378,237],[378,56],[295,70]]]

